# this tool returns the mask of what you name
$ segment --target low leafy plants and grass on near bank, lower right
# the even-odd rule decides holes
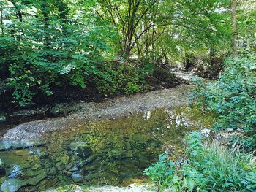
[[[145,170],[159,185],[160,191],[252,191],[256,187],[255,163],[250,155],[230,151],[216,140],[202,141],[202,135],[192,132],[185,161],[168,161],[161,155],[159,162]]]

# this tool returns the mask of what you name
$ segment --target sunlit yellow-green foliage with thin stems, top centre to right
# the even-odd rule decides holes
[[[116,47],[127,58],[156,63],[170,61],[181,59],[184,52],[223,48],[230,42],[227,0],[99,0],[97,3],[97,14],[116,27],[120,35]]]

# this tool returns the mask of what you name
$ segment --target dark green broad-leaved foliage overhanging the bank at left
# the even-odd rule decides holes
[[[85,3],[79,18],[78,4],[69,1],[2,3],[1,79],[15,102],[23,106],[36,94],[51,96],[53,86],[86,88],[86,78],[98,73],[102,54],[110,50],[110,28]]]

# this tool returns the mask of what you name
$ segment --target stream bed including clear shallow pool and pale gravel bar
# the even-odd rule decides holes
[[[176,75],[187,82],[193,77]],[[81,110],[65,118],[16,127],[1,123],[1,191],[147,182],[143,170],[160,154],[178,158],[189,132],[211,128],[211,115],[187,106],[191,90],[192,85],[183,84],[99,104],[80,103]]]

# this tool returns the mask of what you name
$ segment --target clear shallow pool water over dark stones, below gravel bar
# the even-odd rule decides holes
[[[190,131],[210,125],[210,118],[189,107],[78,125],[45,135],[45,146],[1,151],[6,173],[0,175],[0,183],[22,180],[20,191],[71,183],[127,185],[143,179],[143,170],[157,161],[159,154],[176,158],[182,153],[183,138]]]

